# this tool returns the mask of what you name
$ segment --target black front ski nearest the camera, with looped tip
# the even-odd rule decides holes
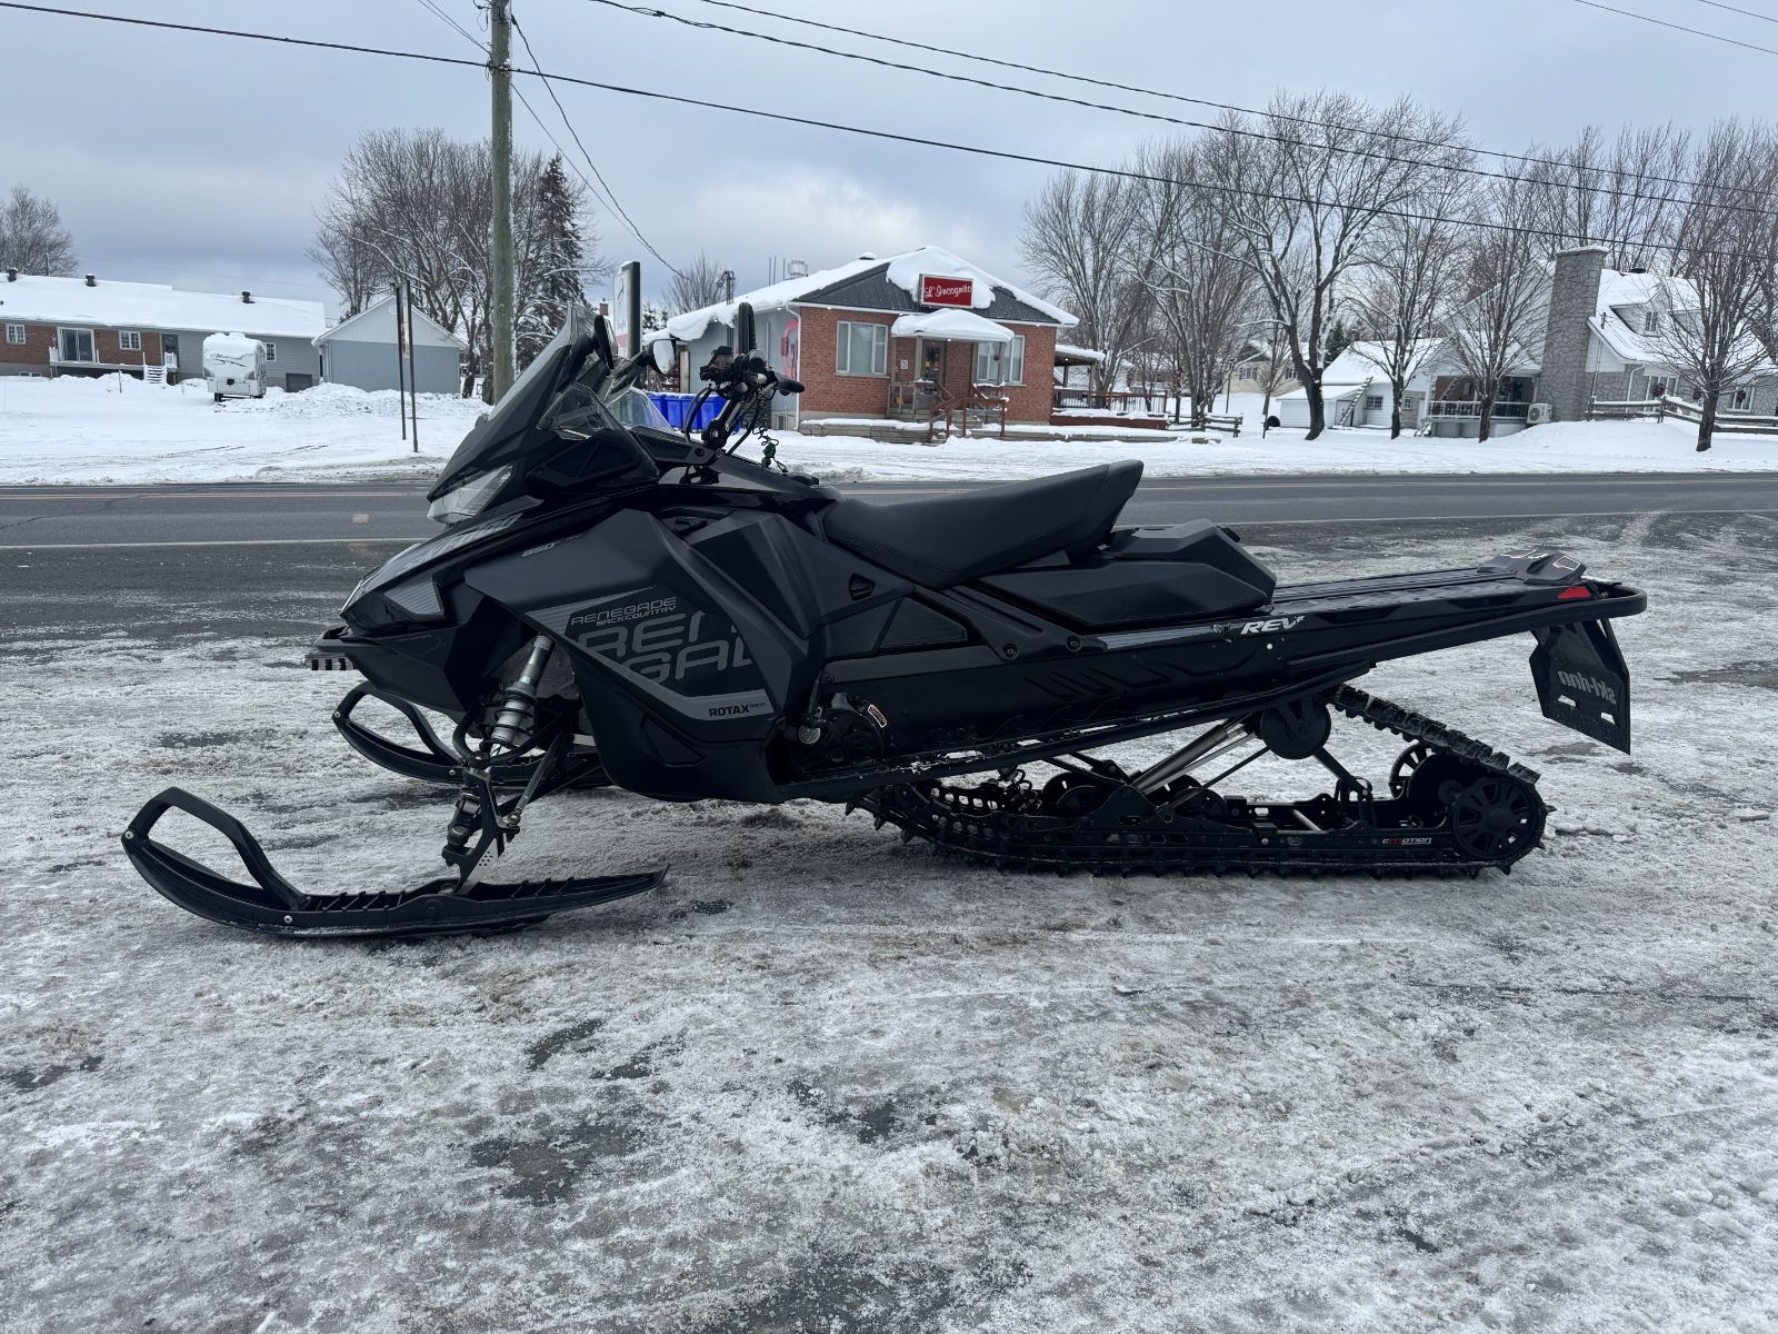
[[[222,834],[240,854],[251,884],[219,875],[153,840],[167,811],[185,811]],[[306,895],[274,870],[240,820],[183,788],[167,788],[123,832],[130,864],[164,898],[224,927],[293,937],[444,936],[526,927],[557,912],[610,904],[660,888],[665,872],[573,880],[475,884],[428,880],[416,889]]]

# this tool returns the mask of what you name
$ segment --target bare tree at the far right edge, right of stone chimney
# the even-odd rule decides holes
[[[1696,181],[1675,237],[1677,276],[1662,279],[1643,338],[1702,395],[1698,450],[1710,448],[1723,393],[1767,359],[1760,324],[1778,245],[1769,213],[1744,206],[1778,189],[1778,146],[1742,121],[1714,125],[1691,164]]]

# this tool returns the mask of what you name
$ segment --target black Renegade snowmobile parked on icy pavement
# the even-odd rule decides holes
[[[123,834],[148,882],[277,936],[523,925],[660,884],[482,879],[530,802],[603,783],[848,802],[1022,870],[1506,870],[1543,834],[1538,775],[1350,683],[1522,631],[1545,717],[1629,751],[1611,621],[1646,598],[1559,551],[1278,585],[1214,523],[1117,526],[1140,462],[846,496],[788,471],[770,436],[763,462],[736,454],[773,395],[802,390],[750,350],[745,306],[736,325],[741,352],[701,372],[722,411],[693,436],[637,388],[647,354],[619,365],[601,317],[571,318],[452,455],[430,493],[444,532],[366,576],[309,649],[311,667],[364,678],[334,713],[347,742],[455,790],[443,879],[302,893],[240,822],[169,788]],[[372,699],[414,738],[361,722]],[[1401,738],[1387,790],[1334,758],[1335,717]],[[1140,770],[1090,754],[1182,729],[1195,735]],[[1325,790],[1221,786],[1268,752],[1314,761]],[[169,809],[220,831],[251,882],[158,843]]]

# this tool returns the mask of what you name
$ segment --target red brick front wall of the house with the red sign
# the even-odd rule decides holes
[[[887,311],[830,309],[802,306],[802,411],[832,416],[884,416],[889,411],[889,381],[919,379],[919,361],[912,338],[889,340],[887,375],[841,375],[834,366],[839,354],[839,322],[894,324]],[[1024,384],[1008,384],[1005,393],[1008,422],[1049,422],[1056,370],[1056,329],[1049,324],[1013,324],[1024,336]],[[907,361],[907,370],[901,363]],[[958,400],[969,397],[976,374],[976,345],[949,343],[944,350],[944,384]]]

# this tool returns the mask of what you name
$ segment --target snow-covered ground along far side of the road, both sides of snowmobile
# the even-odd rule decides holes
[[[215,407],[196,384],[155,390],[116,377],[0,377],[0,486],[425,478],[480,411],[477,402],[425,397],[421,452],[414,454],[400,438],[395,393],[322,386]],[[1486,445],[1419,436],[1390,441],[1383,430],[1334,430],[1305,441],[1301,430],[1273,430],[1262,439],[1259,395],[1236,395],[1232,411],[1245,414],[1250,429],[1239,439],[1213,434],[1204,445],[1189,432],[1154,432],[1140,443],[953,438],[935,446],[777,434],[784,462],[829,480],[1001,480],[1117,459],[1141,459],[1149,477],[1778,470],[1778,438],[1723,436],[1700,455],[1693,427],[1671,422],[1559,423]]]

